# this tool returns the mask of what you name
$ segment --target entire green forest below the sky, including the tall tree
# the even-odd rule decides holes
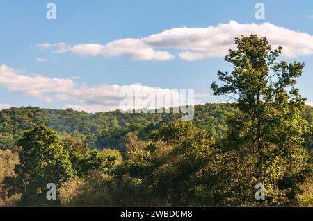
[[[232,101],[195,105],[192,121],[3,109],[0,206],[313,206],[313,107],[296,88],[305,64],[278,61],[283,48],[266,38],[235,43],[234,70],[211,84]]]

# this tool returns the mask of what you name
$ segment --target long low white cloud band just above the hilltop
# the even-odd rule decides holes
[[[66,102],[67,108],[85,112],[107,112],[115,109],[158,109],[194,104],[189,91],[163,89],[145,85],[78,85],[67,78],[47,78],[0,66],[0,86],[8,91],[40,98],[47,103]],[[193,91],[191,91],[193,93]],[[195,94],[196,98],[207,94]],[[199,101],[200,102],[200,101]],[[122,105],[123,104],[123,105]]]

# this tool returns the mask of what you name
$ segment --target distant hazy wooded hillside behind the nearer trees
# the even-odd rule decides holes
[[[232,104],[195,105],[193,122],[207,129],[209,136],[220,141],[227,131],[227,115],[236,112]],[[124,150],[123,137],[138,131],[138,137],[147,140],[162,123],[175,121],[175,114],[122,114],[119,111],[88,114],[72,109],[56,110],[39,107],[10,108],[0,111],[0,148],[14,149],[24,130],[47,125],[61,137],[86,143],[89,148]]]

